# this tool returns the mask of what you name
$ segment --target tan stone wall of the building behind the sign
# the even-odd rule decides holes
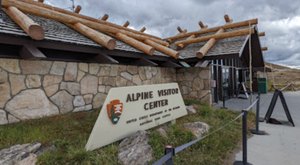
[[[197,73],[196,73],[197,72]],[[210,103],[208,69],[0,59],[0,125],[100,108],[110,88],[178,82]]]

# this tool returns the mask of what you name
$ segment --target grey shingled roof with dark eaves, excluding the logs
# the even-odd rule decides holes
[[[10,0],[7,0],[10,1]],[[26,1],[26,3],[33,3],[32,7],[39,7],[40,4],[38,2],[34,1]],[[20,3],[25,3],[23,1],[20,1]],[[35,5],[34,3],[37,3]],[[3,5],[3,4],[2,4]],[[47,5],[45,5],[47,6]],[[4,6],[5,7],[5,6]],[[46,9],[47,10],[47,9]],[[60,9],[61,10],[61,9]],[[23,10],[22,10],[23,11]],[[27,12],[30,13],[29,10]],[[69,12],[69,11],[66,11]],[[70,12],[69,12],[70,13]],[[121,62],[121,63],[126,63],[126,64],[132,64],[133,62],[137,62],[142,65],[161,65],[161,66],[173,66],[173,67],[178,67],[182,66],[180,64],[181,61],[205,61],[205,60],[210,60],[210,59],[215,59],[215,58],[227,58],[228,55],[234,55],[237,57],[246,57],[246,56],[241,56],[241,53],[245,52],[245,45],[247,41],[249,40],[249,37],[247,35],[244,36],[236,36],[236,37],[231,37],[231,38],[225,38],[225,39],[219,39],[216,44],[209,49],[208,53],[204,56],[203,59],[198,59],[196,57],[197,51],[206,44],[207,41],[204,42],[198,42],[198,43],[193,43],[193,44],[188,44],[185,48],[178,50],[179,52],[179,58],[174,59],[172,58],[173,56],[170,56],[168,54],[170,51],[171,52],[176,52],[177,47],[174,43],[171,43],[170,48],[162,44],[162,47],[165,49],[168,49],[168,51],[164,52],[159,50],[157,47],[154,47],[153,45],[150,45],[146,43],[145,39],[137,39],[134,38],[134,36],[130,36],[133,39],[136,39],[137,41],[140,40],[142,45],[144,44],[145,46],[154,47],[155,51],[153,53],[153,56],[147,55],[145,51],[142,49],[134,48],[132,43],[128,43],[124,40],[122,42],[120,39],[116,39],[116,46],[114,50],[108,50],[104,46],[99,45],[99,43],[96,43],[93,41],[93,39],[90,39],[90,37],[86,37],[85,35],[77,32],[76,30],[73,30],[69,26],[66,26],[63,23],[60,23],[54,19],[48,19],[48,18],[43,18],[40,16],[32,15],[32,14],[27,14],[24,12],[25,15],[27,15],[30,19],[32,19],[35,23],[40,25],[42,29],[44,30],[44,39],[42,41],[37,41],[31,39],[31,36],[29,36],[18,24],[16,24],[2,9],[0,9],[0,50],[1,47],[4,47],[6,49],[11,49],[12,53],[20,52],[20,50],[15,50],[16,47],[9,47],[7,45],[1,45],[1,44],[8,44],[8,45],[15,45],[17,44],[17,48],[20,49],[24,45],[33,45],[33,49],[38,49],[41,54],[45,54],[46,58],[50,59],[57,59],[57,58],[66,58],[66,59],[72,59],[72,58],[77,58],[77,60],[91,58],[94,60],[95,56],[101,55],[104,56],[106,60],[104,61],[110,61],[110,62]],[[75,14],[71,12],[71,15]],[[76,15],[76,14],[75,14]],[[78,15],[78,14],[77,14]],[[79,15],[81,16],[81,15]],[[87,17],[87,16],[83,16]],[[79,17],[80,18],[80,17]],[[91,17],[89,17],[91,18]],[[85,18],[83,18],[85,19]],[[91,18],[94,19],[94,18]],[[88,20],[88,19],[87,19]],[[64,21],[64,20],[59,20],[59,21]],[[97,21],[97,20],[96,20]],[[64,22],[66,23],[66,22]],[[98,22],[95,22],[98,23]],[[109,22],[108,22],[109,23]],[[100,23],[101,24],[101,23]],[[110,23],[112,24],[112,23]],[[114,24],[115,25],[115,24]],[[119,25],[116,25],[119,26]],[[119,26],[121,29],[124,27]],[[112,26],[114,28],[114,26]],[[246,27],[247,28],[247,27]],[[236,28],[227,28],[225,32],[230,32],[234,30],[239,30],[241,27],[236,27]],[[98,32],[102,32],[99,29],[94,29]],[[131,30],[125,27],[126,30]],[[134,33],[141,34],[139,31],[135,31]],[[116,38],[117,35],[111,33],[111,32],[103,32],[106,35]],[[123,32],[122,32],[123,33]],[[130,33],[130,31],[129,31]],[[126,34],[126,33],[124,33]],[[128,34],[128,33],[127,33]],[[215,34],[215,31],[204,33],[197,35],[197,38],[205,37],[208,35],[213,35]],[[141,35],[147,35],[142,32]],[[258,32],[255,31],[255,34],[258,36]],[[143,37],[145,37],[143,36]],[[151,35],[150,35],[151,37]],[[155,36],[153,36],[155,37]],[[181,41],[181,40],[187,40],[188,36],[185,38],[180,38],[177,39],[176,41]],[[152,40],[152,38],[150,38]],[[156,38],[153,38],[155,41]],[[259,43],[259,38],[257,37],[258,40],[254,40],[255,42],[258,42],[256,44],[253,44],[256,46],[256,50],[259,50],[260,52],[256,51],[256,53],[259,56],[262,56],[261,50],[260,50],[260,43]],[[162,39],[158,37],[158,43],[165,42]],[[27,48],[29,49],[29,48]],[[60,53],[58,53],[60,51]],[[7,51],[8,52],[8,51]],[[145,53],[144,53],[145,52]],[[164,52],[164,53],[162,53]],[[0,52],[1,54],[1,52]],[[9,53],[8,53],[9,54]],[[59,54],[59,55],[57,55]],[[65,55],[66,54],[66,55]],[[81,56],[81,57],[79,57]],[[263,58],[259,57],[260,61],[263,63]],[[101,60],[103,58],[101,57]]]

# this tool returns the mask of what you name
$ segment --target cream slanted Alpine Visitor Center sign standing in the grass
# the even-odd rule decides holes
[[[177,83],[111,88],[85,148],[103,147],[186,114]]]

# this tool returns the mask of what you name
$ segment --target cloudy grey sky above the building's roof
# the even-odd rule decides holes
[[[233,21],[258,18],[258,30],[267,62],[300,68],[300,0],[74,0],[81,14],[130,28],[147,28],[146,33],[162,38],[177,34],[177,26],[195,31],[201,20],[209,27],[224,24],[228,14]],[[46,0],[46,3],[70,9],[71,0]]]

